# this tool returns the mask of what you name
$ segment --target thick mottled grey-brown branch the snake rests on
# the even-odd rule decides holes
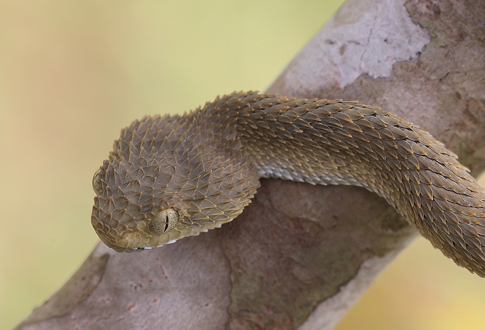
[[[268,92],[381,106],[476,176],[483,77],[483,1],[349,0]],[[141,253],[100,243],[16,329],[331,329],[415,235],[367,190],[262,180],[221,229]]]

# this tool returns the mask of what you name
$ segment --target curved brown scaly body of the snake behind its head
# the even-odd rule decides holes
[[[484,191],[429,133],[356,101],[239,93],[225,102],[236,121],[232,137],[261,177],[369,189],[485,277]]]

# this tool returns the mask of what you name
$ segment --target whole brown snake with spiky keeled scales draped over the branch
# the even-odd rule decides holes
[[[485,277],[484,189],[457,158],[379,107],[234,92],[122,129],[93,177],[91,224],[115,251],[144,251],[234,220],[260,178],[352,185]]]

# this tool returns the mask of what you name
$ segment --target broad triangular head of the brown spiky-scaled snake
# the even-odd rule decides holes
[[[206,152],[184,137],[187,131],[154,129],[167,118],[145,117],[122,130],[93,177],[91,224],[115,251],[148,250],[220,227],[242,212],[259,186],[256,170],[238,161],[240,154],[211,145]]]

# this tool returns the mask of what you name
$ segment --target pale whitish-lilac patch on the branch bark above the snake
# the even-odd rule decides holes
[[[303,94],[311,94],[305,86],[344,88],[362,74],[388,77],[394,63],[416,60],[430,37],[411,20],[403,2],[347,1],[273,86],[290,80],[290,90],[300,84]]]

